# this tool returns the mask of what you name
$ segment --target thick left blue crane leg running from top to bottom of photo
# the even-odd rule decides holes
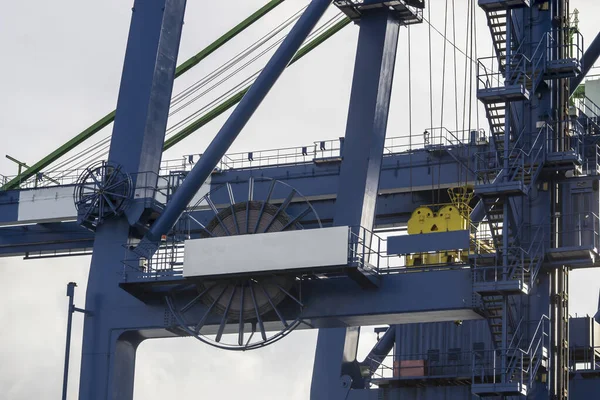
[[[125,171],[158,173],[185,0],[136,0],[109,162]],[[138,182],[139,183],[139,182]],[[135,350],[141,339],[124,332],[132,307],[136,318],[146,307],[119,287],[130,224],[127,217],[107,219],[96,230],[86,292],[79,398],[131,400]]]

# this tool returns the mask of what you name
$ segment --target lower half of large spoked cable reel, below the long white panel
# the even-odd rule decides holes
[[[285,337],[300,325],[300,281],[262,278],[203,281],[173,291],[167,306],[186,334],[227,350],[252,350]],[[290,317],[292,315],[293,317]]]

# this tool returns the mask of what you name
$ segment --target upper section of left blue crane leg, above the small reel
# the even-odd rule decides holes
[[[147,4],[142,4],[147,3]],[[129,30],[110,162],[132,174],[130,224],[154,195],[167,127],[186,0],[136,1]],[[167,110],[167,111],[165,111]]]

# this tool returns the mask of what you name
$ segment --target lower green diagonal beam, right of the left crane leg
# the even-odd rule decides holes
[[[311,40],[308,44],[304,45],[300,50],[298,50],[292,61],[290,61],[289,65],[292,65],[293,63],[304,57],[311,50],[313,50],[325,40],[329,39],[331,36],[339,32],[343,27],[345,27],[349,23],[350,19],[344,18],[343,20],[336,23],[331,28],[317,36],[315,39]],[[196,132],[198,129],[208,124],[210,121],[217,118],[219,115],[223,114],[225,111],[229,110],[231,107],[239,103],[240,100],[242,100],[242,97],[244,97],[244,95],[248,91],[248,89],[250,89],[250,87],[247,87],[235,93],[233,96],[231,96],[230,98],[228,98],[227,100],[210,110],[208,113],[198,118],[196,121],[192,122],[190,125],[186,126],[181,131],[175,133],[173,136],[171,136],[165,141],[163,151],[175,146],[177,143],[179,143],[180,141],[182,141],[192,133]]]

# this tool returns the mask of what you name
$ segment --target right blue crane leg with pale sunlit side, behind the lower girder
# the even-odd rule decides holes
[[[334,225],[373,228],[400,25],[385,9],[360,20]],[[311,399],[345,399],[364,387],[356,352],[359,328],[321,329]]]

